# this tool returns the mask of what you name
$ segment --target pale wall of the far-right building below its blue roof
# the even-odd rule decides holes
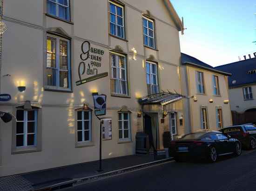
[[[243,88],[251,87],[253,100],[243,99]],[[256,108],[256,85],[242,86],[238,88],[229,89],[230,106],[232,111],[239,113],[245,112],[247,109]],[[237,107],[238,106],[238,107]]]

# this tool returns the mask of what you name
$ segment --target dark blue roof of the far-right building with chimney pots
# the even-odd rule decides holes
[[[232,76],[229,77],[229,87],[256,83],[256,74],[248,74],[248,71],[256,70],[256,58],[217,66],[215,69],[232,74]],[[232,83],[233,81],[236,81],[236,83]]]

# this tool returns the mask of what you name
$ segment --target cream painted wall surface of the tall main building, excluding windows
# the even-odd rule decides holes
[[[147,3],[137,0],[123,2],[126,4],[125,24],[128,41],[108,35],[107,0],[71,0],[71,21],[74,24],[46,16],[45,0],[22,0],[22,3],[16,0],[5,1],[4,14],[11,19],[5,20],[8,30],[3,36],[2,75],[11,76],[2,78],[1,92],[9,93],[13,99],[7,105],[0,104],[0,110],[15,112],[15,106],[26,100],[41,104],[42,151],[11,154],[12,122],[0,122],[0,176],[98,159],[99,121],[94,115],[94,146],[75,147],[74,109],[82,103],[93,107],[92,90],[108,96],[107,116],[112,118],[113,139],[103,141],[103,158],[134,154],[137,111],[141,109],[137,98],[148,93],[145,60],[149,57],[153,57],[159,64],[160,89],[175,89],[181,92],[177,71],[177,66],[180,65],[179,33],[162,0],[150,0]],[[141,13],[146,10],[149,10],[155,19],[158,51],[143,46]],[[55,27],[71,38],[73,93],[44,90],[46,31]],[[99,73],[110,71],[109,50],[114,49],[116,45],[127,54],[130,98],[110,96],[109,76],[81,86],[75,85],[79,79],[77,71],[81,62],[81,44],[86,39],[91,42],[92,47],[105,52]],[[132,48],[137,51],[136,60],[132,59]],[[26,91],[23,93],[17,90],[17,82],[21,81],[26,85]],[[132,111],[132,141],[119,144],[117,111],[123,105]]]

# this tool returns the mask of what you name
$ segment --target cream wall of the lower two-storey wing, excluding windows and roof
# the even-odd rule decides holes
[[[204,75],[205,94],[198,94],[196,89],[195,71],[201,71]],[[226,77],[207,70],[201,70],[195,67],[187,66],[187,74],[189,78],[189,96],[195,96],[197,102],[190,98],[191,128],[192,132],[202,129],[201,127],[201,106],[206,106],[208,110],[209,128],[217,130],[216,127],[216,107],[222,107],[223,126],[232,125],[230,105],[224,104],[224,100],[229,100]],[[212,75],[219,78],[219,87],[221,96],[213,95]],[[213,100],[213,103],[209,102]]]

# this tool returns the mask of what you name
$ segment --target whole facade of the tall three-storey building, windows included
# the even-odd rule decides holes
[[[17,121],[0,121],[0,176],[99,159],[96,92],[107,96],[103,159],[135,154],[145,118],[159,151],[164,131],[186,133],[183,26],[169,0],[7,0],[3,14],[0,91],[12,100],[0,111]],[[138,102],[162,90],[176,93]]]

